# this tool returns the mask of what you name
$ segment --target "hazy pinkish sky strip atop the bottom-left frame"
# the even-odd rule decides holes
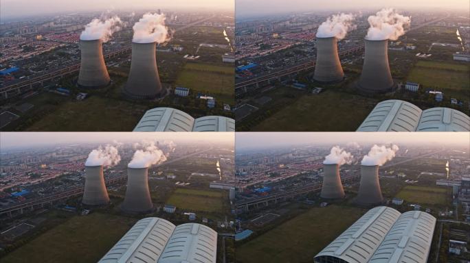
[[[143,139],[175,140],[175,142],[233,142],[234,132],[2,132],[0,133],[0,150],[63,143],[109,143],[113,140],[138,142]]]

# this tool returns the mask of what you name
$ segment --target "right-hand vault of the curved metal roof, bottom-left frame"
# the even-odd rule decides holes
[[[216,263],[217,232],[205,225],[188,223],[175,228],[159,263]]]

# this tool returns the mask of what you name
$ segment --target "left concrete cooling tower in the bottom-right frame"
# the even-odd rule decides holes
[[[323,164],[323,185],[320,197],[326,199],[341,199],[344,197],[338,164]]]

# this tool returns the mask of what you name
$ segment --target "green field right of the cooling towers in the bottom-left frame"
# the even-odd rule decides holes
[[[183,210],[220,213],[226,201],[222,191],[177,188],[166,203]]]

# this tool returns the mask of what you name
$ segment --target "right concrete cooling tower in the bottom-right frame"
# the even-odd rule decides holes
[[[372,205],[383,201],[379,184],[379,166],[361,165],[361,182],[357,193],[357,203]]]

